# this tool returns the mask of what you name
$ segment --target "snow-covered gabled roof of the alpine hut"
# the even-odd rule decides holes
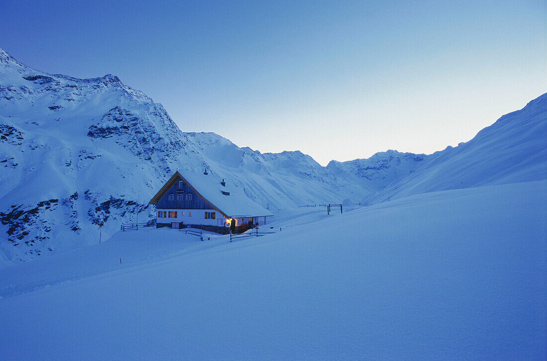
[[[224,179],[226,185],[223,186],[220,184],[222,178],[218,178],[212,173],[177,171],[149,203],[155,205],[179,178],[182,178],[197,194],[228,218],[273,216],[271,212],[249,199],[240,188],[230,184],[229,179]],[[229,195],[225,193],[229,193]]]

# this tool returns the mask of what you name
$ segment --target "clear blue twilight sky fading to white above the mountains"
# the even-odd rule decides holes
[[[547,91],[545,1],[11,1],[28,66],[144,91],[183,131],[325,165],[468,141]]]

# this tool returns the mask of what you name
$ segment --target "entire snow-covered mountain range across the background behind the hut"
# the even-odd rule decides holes
[[[543,95],[432,155],[388,150],[323,167],[298,151],[262,154],[182,132],[161,104],[114,75],[48,74],[0,49],[0,257],[80,247],[99,241],[99,226],[108,237],[142,222],[177,169],[207,168],[270,209],[544,179],[546,109]]]

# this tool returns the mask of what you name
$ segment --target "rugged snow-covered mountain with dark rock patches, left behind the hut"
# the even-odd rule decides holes
[[[26,260],[99,240],[149,217],[177,169],[242,187],[269,208],[335,202],[362,189],[300,152],[261,154],[214,133],[183,133],[161,104],[113,75],[77,79],[0,49],[0,249]]]

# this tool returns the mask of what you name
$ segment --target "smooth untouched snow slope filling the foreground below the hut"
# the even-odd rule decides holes
[[[133,232],[123,242],[172,246],[173,257],[7,295],[0,350],[6,360],[545,359],[546,194],[538,181],[329,217],[297,208],[278,215],[274,235],[179,255],[186,241],[165,240],[177,231]],[[127,235],[90,258],[103,248],[115,263]],[[61,256],[10,268],[66,274]]]

